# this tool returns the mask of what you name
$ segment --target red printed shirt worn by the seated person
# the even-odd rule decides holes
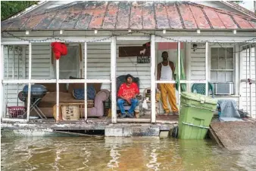
[[[132,99],[136,94],[139,93],[139,88],[136,83],[130,84],[130,87],[123,83],[117,93],[117,96],[123,96],[127,99]]]

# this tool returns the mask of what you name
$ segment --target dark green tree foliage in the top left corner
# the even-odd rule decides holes
[[[14,14],[36,4],[37,1],[23,1],[23,2],[12,2],[12,1],[2,1],[1,2],[1,20],[5,20]]]

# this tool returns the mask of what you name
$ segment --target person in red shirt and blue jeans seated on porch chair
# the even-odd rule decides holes
[[[126,75],[126,82],[121,84],[120,89],[118,90],[117,96],[117,105],[120,108],[121,116],[120,118],[133,118],[133,112],[138,104],[138,99],[136,96],[139,95],[139,88],[136,83],[133,83],[132,75]],[[128,112],[123,108],[123,103],[128,102],[131,106]]]

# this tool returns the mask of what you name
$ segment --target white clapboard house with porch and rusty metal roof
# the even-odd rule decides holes
[[[156,84],[175,83],[156,81],[163,51],[176,64],[177,76],[182,59],[186,80],[179,84],[187,91],[210,82],[214,98],[234,99],[256,117],[256,16],[233,2],[39,2],[2,21],[1,32],[2,120],[11,120],[6,105],[24,105],[17,93],[26,84],[57,83],[58,90],[61,83],[102,83],[101,89],[111,92],[111,121],[117,123],[116,78],[131,74],[140,79],[140,93],[151,88],[148,122],[155,123]],[[55,60],[50,46],[55,41],[67,44],[68,58]],[[148,42],[150,63],[120,56],[120,47]],[[55,98],[58,106],[58,92]]]

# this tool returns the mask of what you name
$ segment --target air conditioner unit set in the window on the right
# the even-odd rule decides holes
[[[234,94],[233,83],[216,83],[215,84],[216,95],[232,95]]]

